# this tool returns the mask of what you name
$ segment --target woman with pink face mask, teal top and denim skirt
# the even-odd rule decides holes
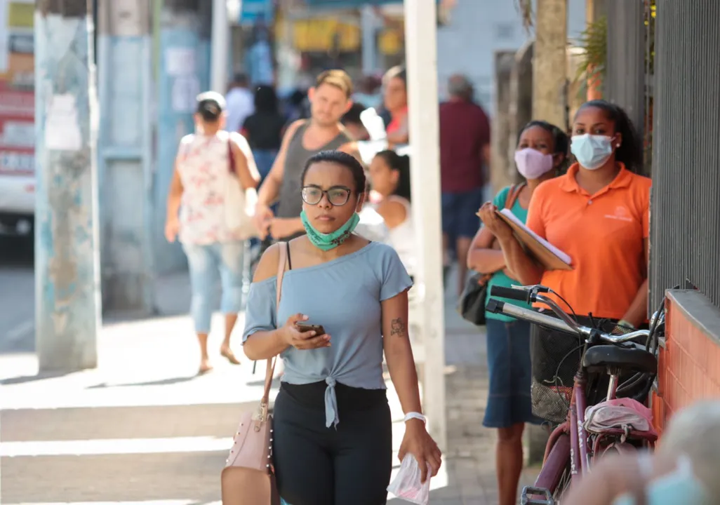
[[[553,124],[544,121],[526,124],[518,137],[515,152],[515,163],[525,182],[504,188],[492,204],[498,209],[510,209],[525,222],[533,191],[541,182],[553,178],[562,170],[567,146],[567,135]],[[472,240],[467,266],[470,270],[487,274],[488,298],[492,286],[518,284],[516,276],[505,264],[495,235],[488,227],[482,227]],[[523,306],[518,301],[503,301]],[[495,464],[499,503],[514,505],[523,468],[523,429],[526,422],[541,422],[532,413],[530,399],[530,324],[490,312],[485,314],[485,318],[490,393],[482,424],[498,429]]]

